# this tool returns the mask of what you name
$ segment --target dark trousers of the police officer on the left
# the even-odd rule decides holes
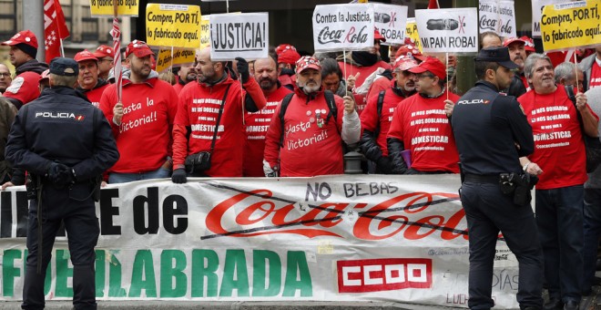
[[[44,309],[46,267],[52,257],[52,247],[61,222],[73,263],[73,305],[79,309],[96,309],[94,247],[100,233],[96,208],[87,184],[76,184],[71,190],[56,190],[45,185],[42,193],[42,272],[37,273],[38,210],[37,200],[29,203],[27,222],[27,261],[23,286],[23,309]],[[78,201],[79,200],[79,201]]]

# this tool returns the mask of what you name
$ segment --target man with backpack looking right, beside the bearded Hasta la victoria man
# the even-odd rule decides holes
[[[359,148],[365,158],[373,163],[371,165],[374,167],[370,167],[370,172],[387,174],[392,170],[386,136],[399,102],[415,94],[415,74],[409,71],[413,67],[417,67],[417,61],[413,57],[397,59],[392,68],[393,78],[389,88],[369,98],[363,110],[363,134]]]

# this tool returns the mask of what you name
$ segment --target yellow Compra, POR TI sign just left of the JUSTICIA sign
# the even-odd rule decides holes
[[[148,4],[146,37],[154,47],[199,48],[199,5]]]

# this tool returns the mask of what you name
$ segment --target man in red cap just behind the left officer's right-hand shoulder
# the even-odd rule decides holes
[[[98,108],[102,93],[108,87],[107,81],[98,77],[98,58],[87,49],[84,49],[77,53],[73,59],[79,66],[76,89],[86,95],[94,107]]]

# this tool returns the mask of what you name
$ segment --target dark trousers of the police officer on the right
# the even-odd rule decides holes
[[[490,309],[494,253],[499,232],[519,265],[517,302],[521,308],[543,306],[543,250],[530,206],[514,204],[498,183],[465,181],[461,202],[469,232],[470,309]]]

